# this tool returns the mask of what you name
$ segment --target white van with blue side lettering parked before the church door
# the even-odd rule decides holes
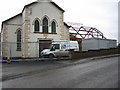
[[[79,45],[77,41],[54,41],[50,46],[50,49],[44,49],[41,52],[42,57],[63,57],[69,56],[70,51],[79,51]]]

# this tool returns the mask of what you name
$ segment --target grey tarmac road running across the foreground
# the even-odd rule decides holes
[[[3,88],[118,88],[118,57],[70,65],[67,62],[46,61],[23,65],[17,63],[8,67],[5,64],[3,67],[11,68],[11,72],[3,70],[8,75],[12,75],[12,72],[15,74],[15,71],[17,73],[15,68],[18,67],[19,73],[26,72],[20,77],[5,79]]]

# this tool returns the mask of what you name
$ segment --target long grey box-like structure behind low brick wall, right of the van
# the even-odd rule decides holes
[[[117,41],[111,39],[90,38],[83,39],[82,51],[116,48]]]

